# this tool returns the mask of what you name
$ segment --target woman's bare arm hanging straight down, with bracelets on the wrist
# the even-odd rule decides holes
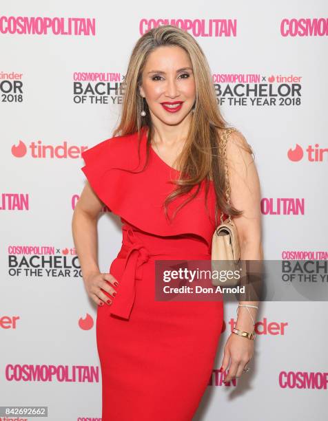
[[[226,156],[231,187],[231,204],[243,214],[233,217],[238,230],[241,260],[263,260],[260,222],[260,180],[254,158],[247,151],[247,140],[240,132],[232,132],[227,141]],[[239,301],[240,304],[258,305],[258,301]],[[239,307],[236,328],[254,332],[252,318],[256,321],[257,309]],[[229,365],[225,382],[240,377],[254,354],[254,341],[231,333],[224,348],[221,371]]]

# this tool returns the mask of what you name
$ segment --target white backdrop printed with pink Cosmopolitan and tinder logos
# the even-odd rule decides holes
[[[328,251],[327,2],[161,6],[1,5],[0,406],[48,406],[53,421],[100,420],[96,308],[79,272],[72,211],[85,182],[81,148],[112,136],[127,60],[152,25],[181,19],[178,25],[191,27],[221,87],[223,116],[254,149],[265,259]],[[96,93],[99,81],[103,94]],[[309,146],[322,149],[322,160]],[[286,197],[304,200],[304,213],[279,213],[278,199]],[[111,213],[99,219],[103,272],[121,246],[120,226]],[[225,305],[225,323],[230,319],[235,303]],[[325,301],[262,303],[252,370],[227,386],[217,372],[226,329],[195,419],[326,420],[326,320]]]

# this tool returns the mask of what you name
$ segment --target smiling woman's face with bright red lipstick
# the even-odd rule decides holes
[[[148,56],[140,94],[147,101],[152,120],[178,125],[190,117],[196,86],[192,63],[183,48],[158,47]]]

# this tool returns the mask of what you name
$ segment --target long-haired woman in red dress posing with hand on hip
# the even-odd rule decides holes
[[[88,182],[72,222],[85,288],[99,305],[103,421],[192,420],[205,392],[223,302],[156,301],[154,262],[211,259],[221,211],[235,216],[242,259],[260,259],[258,175],[238,131],[226,151],[231,203],[243,213],[222,193],[217,148],[226,127],[193,37],[171,25],[143,35],[130,57],[119,127],[83,153]],[[96,255],[103,204],[123,222],[109,273],[99,271]],[[255,316],[254,307],[240,307],[236,327],[253,332]],[[230,362],[227,381],[241,376],[253,347],[248,338],[229,336],[221,367]]]

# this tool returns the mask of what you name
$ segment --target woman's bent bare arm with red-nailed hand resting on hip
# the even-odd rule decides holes
[[[97,222],[103,202],[87,182],[76,202],[72,217],[72,235],[76,254],[79,257],[85,289],[98,305],[111,304],[112,300],[102,291],[113,295],[116,279],[109,273],[101,273],[98,266]],[[117,283],[117,284],[116,284]]]

